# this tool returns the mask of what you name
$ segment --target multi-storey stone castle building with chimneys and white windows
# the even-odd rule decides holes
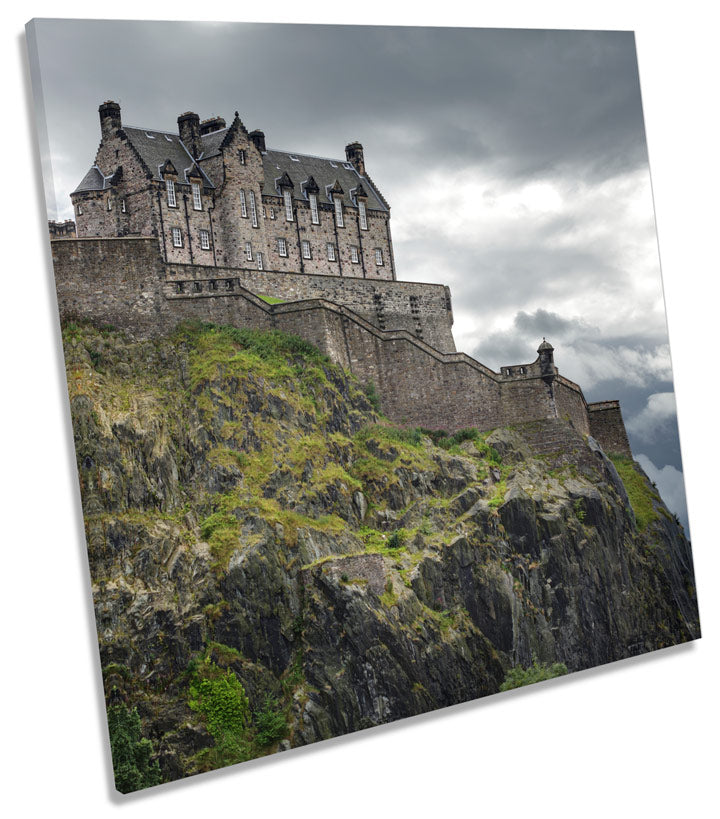
[[[390,208],[362,145],[325,159],[268,149],[230,124],[178,117],[178,133],[123,126],[100,106],[95,161],[71,194],[80,238],[155,236],[164,261],[393,281]]]

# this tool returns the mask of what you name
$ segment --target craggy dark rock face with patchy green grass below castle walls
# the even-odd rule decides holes
[[[534,660],[699,637],[681,528],[592,439],[555,459],[522,428],[436,446],[277,334],[64,337],[107,695],[166,779],[216,742],[189,704],[200,658],[240,680],[268,753],[495,693]],[[258,744],[268,698],[285,730]]]

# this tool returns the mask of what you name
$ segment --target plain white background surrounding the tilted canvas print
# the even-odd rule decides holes
[[[713,4],[380,2],[217,20],[636,31],[705,637],[534,689],[120,797],[89,604],[23,25],[106,6],[36,2],[3,29],[2,771],[8,816],[704,817],[716,815],[718,58]],[[469,10],[471,9],[472,10]],[[203,19],[125,0],[126,17]],[[242,16],[239,16],[239,15]],[[118,70],[122,70],[118,66]],[[82,82],[82,77],[78,77]],[[169,89],[170,93],[172,90]],[[179,90],[178,90],[179,93]],[[705,383],[703,383],[705,379]]]

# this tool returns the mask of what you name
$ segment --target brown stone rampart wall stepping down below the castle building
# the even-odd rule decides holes
[[[90,318],[138,337],[192,319],[276,328],[310,341],[361,383],[372,381],[383,412],[397,423],[491,429],[561,418],[580,433],[592,432],[604,448],[630,454],[619,404],[591,405],[589,413],[577,384],[558,374],[549,344],[541,345],[537,361],[501,373],[455,352],[449,294],[441,285],[272,271],[251,278],[233,268],[166,265],[152,237],[56,240],[52,250],[64,320]],[[268,304],[249,286],[296,300]],[[384,322],[375,306],[378,292]],[[410,310],[412,323],[402,326],[411,298],[417,311]],[[387,326],[392,321],[400,326]]]

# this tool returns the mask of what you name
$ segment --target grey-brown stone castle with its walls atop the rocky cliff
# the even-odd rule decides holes
[[[115,102],[99,114],[71,194],[77,238],[51,242],[63,319],[138,337],[187,319],[275,328],[372,382],[397,423],[536,422],[550,448],[572,431],[631,454],[619,403],[589,404],[547,341],[499,373],[456,352],[449,289],[397,280],[390,207],[360,143],[323,159],[268,149],[237,112],[230,126],[182,114],[177,134],[123,126]]]

